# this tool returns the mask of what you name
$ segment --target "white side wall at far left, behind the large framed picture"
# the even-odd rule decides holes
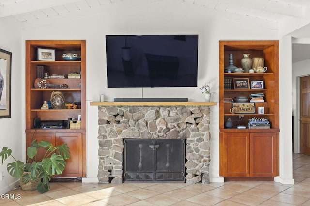
[[[11,19],[0,19],[0,48],[12,52],[12,75],[11,75],[11,118],[0,119],[0,149],[9,147],[12,149],[12,154],[16,159],[22,160],[24,156],[23,133],[25,128],[25,120],[22,119],[22,113],[25,111],[25,87],[22,68],[21,50],[22,37],[21,26],[19,22]],[[0,160],[1,161],[1,160]],[[6,169],[9,162],[13,162],[12,158],[8,159],[2,165],[0,163],[0,172],[4,173],[4,180],[0,181],[0,194],[3,194],[12,189],[12,183],[17,179],[11,177]]]

